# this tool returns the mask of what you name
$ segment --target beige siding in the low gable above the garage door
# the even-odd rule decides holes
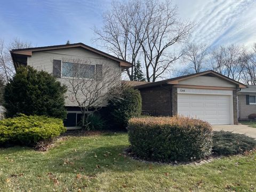
[[[218,77],[197,76],[179,81],[179,85],[201,85],[201,86],[219,86],[236,87],[235,84],[225,81]]]

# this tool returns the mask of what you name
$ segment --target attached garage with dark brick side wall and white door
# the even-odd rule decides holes
[[[179,114],[224,125],[238,123],[237,91],[246,85],[209,70],[134,87],[145,114]]]

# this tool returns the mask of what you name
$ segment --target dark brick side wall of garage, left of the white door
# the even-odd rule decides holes
[[[142,113],[153,116],[171,115],[171,86],[140,89]]]

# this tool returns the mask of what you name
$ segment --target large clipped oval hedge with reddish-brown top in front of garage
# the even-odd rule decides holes
[[[189,117],[132,118],[128,125],[131,151],[151,161],[189,161],[211,155],[212,127]]]

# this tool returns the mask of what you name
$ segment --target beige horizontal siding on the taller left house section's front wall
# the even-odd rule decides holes
[[[115,78],[116,84],[121,84],[121,67],[119,63],[108,58],[102,57],[101,55],[92,53],[90,51],[84,50],[82,48],[68,48],[62,50],[51,50],[51,51],[41,51],[33,52],[31,57],[28,57],[28,65],[34,67],[37,70],[44,70],[48,73],[53,73],[53,60],[61,61],[77,61],[89,63],[90,65],[102,65],[103,70],[107,68],[108,71],[111,71],[107,78]],[[111,70],[110,70],[111,69]],[[104,72],[103,72],[104,73]],[[118,76],[118,78],[116,78]],[[75,101],[74,94],[72,93],[72,86],[70,85],[67,78],[57,78],[61,84],[66,84],[68,91],[65,94],[65,105],[66,106],[78,106]],[[113,84],[113,86],[115,83]],[[105,89],[105,92],[108,90]],[[83,94],[79,96],[79,100],[83,101]],[[107,102],[102,101],[100,106],[106,106]]]

